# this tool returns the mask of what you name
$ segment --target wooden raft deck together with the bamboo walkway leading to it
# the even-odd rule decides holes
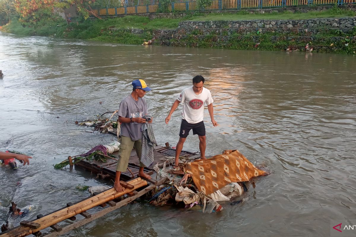
[[[155,162],[162,162],[161,159],[166,156],[174,156],[175,149],[169,147],[168,143],[166,147],[157,146],[154,151]],[[108,176],[109,178],[115,178],[116,172],[116,162],[117,162],[117,152],[114,152],[112,155],[116,155],[116,158],[108,158],[106,163],[98,162],[98,161],[88,161],[81,160],[76,163],[75,167],[83,168],[85,170],[90,171],[91,173],[101,173],[103,175]],[[191,159],[196,159],[200,155],[198,153],[182,151],[180,153],[182,157],[189,157]],[[68,157],[69,158],[69,157]],[[71,159],[71,157],[70,157]],[[0,233],[0,237],[23,237],[27,235],[35,235],[35,236],[46,236],[46,237],[55,237],[61,236],[64,233],[83,226],[90,221],[98,219],[105,214],[108,214],[111,211],[114,211],[121,206],[124,206],[133,200],[139,198],[140,196],[150,192],[152,189],[155,189],[159,185],[162,185],[166,179],[156,180],[156,172],[153,171],[152,165],[151,167],[147,167],[144,169],[146,174],[151,175],[151,179],[144,179],[141,177],[137,177],[139,167],[138,157],[136,152],[132,150],[130,156],[129,171],[121,173],[121,185],[125,187],[124,192],[116,192],[114,188],[110,188],[101,193],[94,193],[93,196],[81,200],[75,204],[67,203],[67,206],[61,208],[57,211],[49,213],[47,215],[39,214],[37,215],[37,219],[30,221],[21,221],[20,226],[16,226],[10,230],[4,231]],[[163,165],[163,164],[162,164]],[[73,168],[73,166],[71,166]],[[137,178],[135,178],[137,177]],[[138,191],[136,191],[138,189]],[[117,200],[119,197],[127,194],[128,197],[119,201]],[[110,207],[104,208],[106,205]],[[101,206],[104,209],[90,214],[87,211],[95,208],[97,206]],[[76,215],[82,215],[85,218],[82,220],[76,221]],[[59,222],[64,221],[66,219],[75,221],[67,226],[60,226]],[[45,228],[52,228],[54,231],[43,234],[41,230]]]

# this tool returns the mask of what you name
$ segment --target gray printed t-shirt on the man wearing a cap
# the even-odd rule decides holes
[[[119,112],[117,115],[124,118],[143,118],[148,114],[147,104],[145,99],[138,98],[138,101],[132,98],[131,95],[126,96],[120,103]],[[132,141],[142,139],[141,126],[143,123],[122,123],[121,124],[121,136],[127,136]]]

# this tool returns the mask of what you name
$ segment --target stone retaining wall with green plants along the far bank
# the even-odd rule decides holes
[[[154,30],[152,38],[155,38],[154,44],[180,47],[240,48],[236,42],[239,44],[245,41],[244,45],[247,46],[244,49],[248,49],[260,43],[260,37],[268,33],[268,42],[266,42],[266,37],[263,37],[265,42],[257,47],[276,43],[268,50],[286,50],[287,48],[304,50],[304,46],[309,43],[314,50],[320,50],[320,52],[342,50],[342,52],[354,53],[356,52],[355,29],[356,17],[309,20],[184,21],[179,23],[177,29]],[[142,29],[125,29],[125,31],[133,34],[145,33]],[[244,36],[248,36],[248,39]]]

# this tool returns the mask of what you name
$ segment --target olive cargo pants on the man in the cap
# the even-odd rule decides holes
[[[121,136],[121,144],[119,146],[119,160],[117,161],[116,171],[125,172],[129,166],[129,159],[132,148],[135,148],[140,167],[146,167],[141,163],[142,140],[132,141],[127,136]]]

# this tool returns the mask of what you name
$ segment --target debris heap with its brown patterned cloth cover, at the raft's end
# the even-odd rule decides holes
[[[151,193],[149,202],[152,205],[177,204],[187,209],[195,207],[203,212],[218,212],[223,210],[219,201],[241,197],[252,178],[267,175],[237,150],[224,151],[222,155],[208,160],[190,161],[182,158],[177,169],[169,168],[173,162],[174,158],[166,157],[163,164],[153,167],[158,180],[167,179]],[[231,204],[241,201],[244,199]]]

